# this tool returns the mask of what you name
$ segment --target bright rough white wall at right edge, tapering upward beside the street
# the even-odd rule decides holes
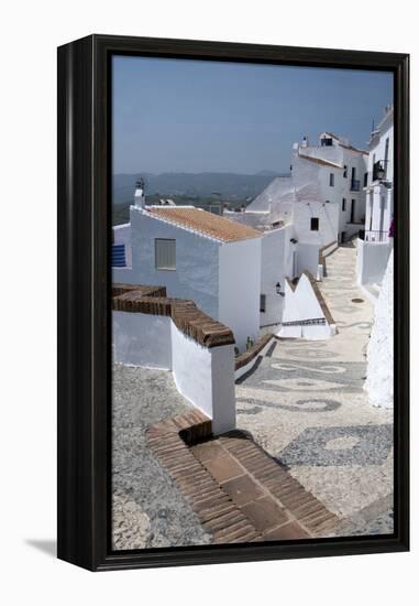
[[[367,349],[365,389],[374,407],[394,405],[394,307],[393,251],[388,259],[381,293],[375,305],[374,326]]]

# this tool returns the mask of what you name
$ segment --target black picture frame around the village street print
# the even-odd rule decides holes
[[[395,83],[395,532],[112,552],[112,54],[377,69]],[[409,55],[90,35],[58,48],[58,558],[91,571],[409,549]]]

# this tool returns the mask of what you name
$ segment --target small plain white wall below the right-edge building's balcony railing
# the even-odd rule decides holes
[[[356,277],[361,285],[381,284],[393,247],[388,242],[356,240]]]

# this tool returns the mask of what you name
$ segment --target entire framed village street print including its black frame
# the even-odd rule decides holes
[[[58,556],[408,549],[408,55],[58,50]]]

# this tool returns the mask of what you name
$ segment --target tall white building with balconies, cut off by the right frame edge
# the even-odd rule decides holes
[[[383,120],[371,133],[365,183],[364,230],[357,240],[356,270],[361,285],[378,294],[393,247],[394,215],[394,109],[385,108]]]

